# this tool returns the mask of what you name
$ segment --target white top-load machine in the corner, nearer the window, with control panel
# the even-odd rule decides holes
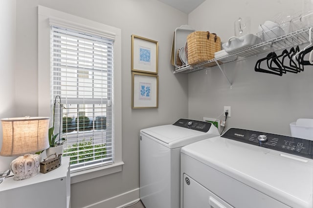
[[[219,135],[211,123],[179,119],[140,131],[140,199],[146,208],[179,208],[181,147]]]

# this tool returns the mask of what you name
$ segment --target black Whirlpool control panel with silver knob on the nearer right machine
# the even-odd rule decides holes
[[[313,141],[307,139],[235,128],[222,137],[313,159]]]

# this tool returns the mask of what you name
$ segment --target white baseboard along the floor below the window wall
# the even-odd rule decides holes
[[[88,205],[84,208],[123,208],[139,199],[139,188],[113,196],[109,199]]]

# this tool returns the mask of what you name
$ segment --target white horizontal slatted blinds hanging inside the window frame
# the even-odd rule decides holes
[[[61,124],[71,172],[113,162],[113,43],[51,26],[51,103],[59,95],[64,106],[56,105],[55,133]]]

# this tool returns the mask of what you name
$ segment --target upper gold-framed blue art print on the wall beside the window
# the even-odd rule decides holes
[[[132,71],[157,74],[158,42],[132,35]]]

